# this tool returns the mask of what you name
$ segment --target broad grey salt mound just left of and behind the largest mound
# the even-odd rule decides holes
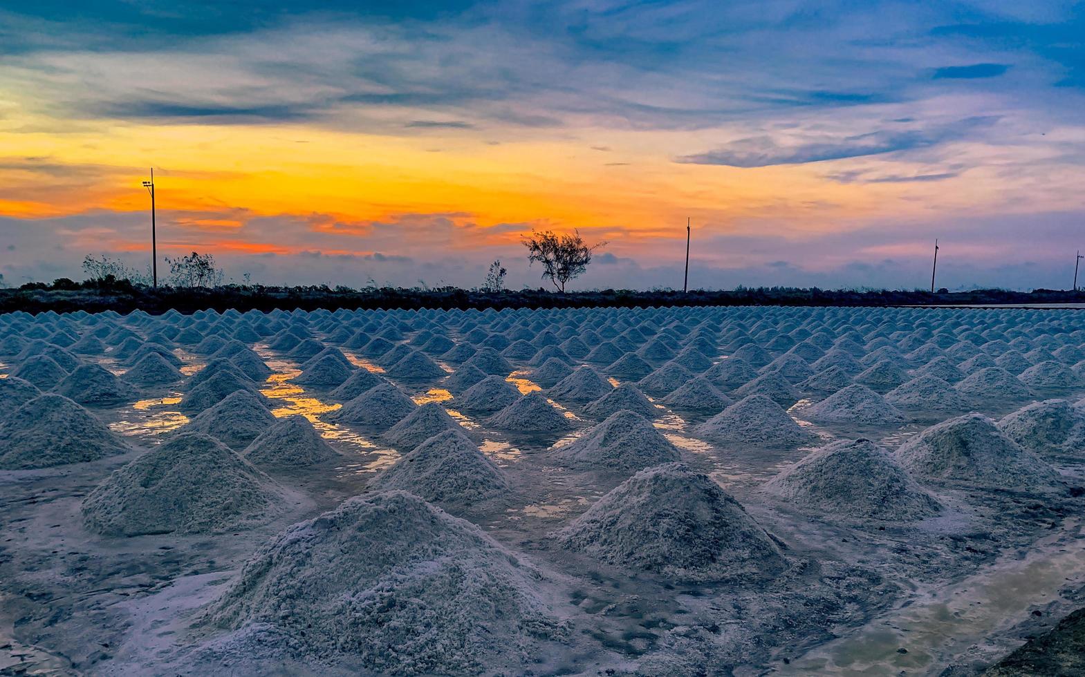
[[[82,502],[106,536],[235,531],[280,511],[282,489],[205,434],[181,434],[115,471]]]

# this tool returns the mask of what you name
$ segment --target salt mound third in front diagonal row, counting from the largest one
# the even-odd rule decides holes
[[[942,505],[870,440],[824,446],[770,480],[765,490],[827,516],[917,520]]]

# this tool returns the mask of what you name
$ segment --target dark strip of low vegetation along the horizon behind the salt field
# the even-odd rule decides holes
[[[85,310],[119,313],[141,309],[152,314],[169,309],[191,313],[197,310],[225,311],[277,308],[316,310],[345,309],[502,309],[502,308],[637,308],[650,305],[970,305],[1000,303],[1085,303],[1085,291],[1036,289],[975,289],[948,291],[890,289],[799,289],[793,287],[739,287],[732,290],[671,289],[636,291],[597,289],[556,292],[546,289],[484,290],[441,288],[367,287],[268,287],[225,285],[218,287],[158,287],[132,285],[127,281],[46,285],[34,283],[0,289],[0,312],[59,313]]]

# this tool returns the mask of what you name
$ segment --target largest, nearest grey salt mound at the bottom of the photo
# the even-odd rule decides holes
[[[347,658],[366,674],[523,674],[567,633],[539,580],[474,524],[381,492],[288,529],[204,622],[271,628],[297,658]]]

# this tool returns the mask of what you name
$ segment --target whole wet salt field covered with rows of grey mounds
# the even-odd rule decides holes
[[[3,315],[0,669],[979,674],[1083,395],[1073,310]]]

